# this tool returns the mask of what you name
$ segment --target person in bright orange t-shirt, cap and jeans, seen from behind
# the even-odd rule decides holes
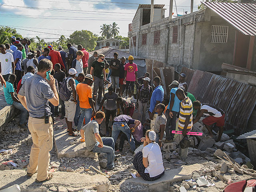
[[[80,102],[80,118],[78,121],[77,130],[81,130],[85,118],[85,124],[90,122],[90,119],[95,114],[94,105],[92,102],[92,83],[93,78],[91,74],[85,76],[85,80],[76,86],[76,92]]]

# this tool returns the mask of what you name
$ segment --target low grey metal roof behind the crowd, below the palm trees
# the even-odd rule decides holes
[[[111,47],[102,48],[102,49],[98,49],[98,50],[95,50],[95,51],[97,51],[98,54],[104,54],[106,59],[113,59],[115,52],[118,53],[118,58],[125,57],[125,58],[128,59],[128,57],[130,55],[132,55],[132,54],[126,53],[126,52],[118,50],[118,49],[113,49]],[[93,53],[94,53],[94,51],[89,52],[89,54],[93,54]],[[142,58],[142,57],[139,57],[139,56],[134,56],[134,55],[132,55],[132,56],[133,56],[134,59],[145,59],[145,58]]]

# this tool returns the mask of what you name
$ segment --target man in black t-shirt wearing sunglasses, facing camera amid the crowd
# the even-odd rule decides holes
[[[98,60],[92,62],[90,71],[90,74],[94,76],[93,99],[95,99],[94,95],[97,95],[98,92],[97,102],[99,105],[102,98],[103,83],[106,81],[104,57],[103,54],[99,54]]]

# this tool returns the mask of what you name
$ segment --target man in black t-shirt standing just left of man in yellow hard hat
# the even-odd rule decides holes
[[[111,72],[111,83],[114,89],[114,92],[118,93],[119,90],[119,67],[121,65],[120,59],[117,58],[118,53],[114,53],[114,59],[111,60],[109,68]]]

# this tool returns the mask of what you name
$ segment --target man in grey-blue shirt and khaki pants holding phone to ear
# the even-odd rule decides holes
[[[21,104],[29,112],[28,129],[33,140],[27,176],[31,177],[38,167],[36,182],[44,182],[53,177],[52,173],[47,173],[53,137],[49,101],[58,106],[59,98],[51,71],[52,62],[42,59],[37,74],[24,82],[18,94]]]

